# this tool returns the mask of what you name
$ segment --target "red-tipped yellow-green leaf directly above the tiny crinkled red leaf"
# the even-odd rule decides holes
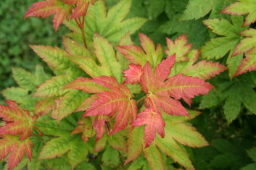
[[[164,56],[162,46],[157,44],[157,47],[155,47],[153,41],[144,34],[139,34],[139,38],[143,49],[135,45],[117,46],[117,49],[132,64],[144,66],[146,61],[149,61],[152,67],[155,67]]]

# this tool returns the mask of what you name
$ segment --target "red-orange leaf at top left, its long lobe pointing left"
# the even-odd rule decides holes
[[[54,16],[54,30],[57,31],[59,25],[66,18],[69,20],[71,9],[70,4],[65,4],[62,0],[46,0],[34,3],[26,12],[24,19],[27,17],[49,17],[51,14]]]

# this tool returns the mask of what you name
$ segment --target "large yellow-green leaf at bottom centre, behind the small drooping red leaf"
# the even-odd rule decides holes
[[[204,137],[202,137],[199,132],[196,131],[194,127],[187,124],[186,121],[193,119],[199,114],[197,111],[189,111],[191,118],[188,116],[168,116],[164,114],[166,121],[165,126],[165,137],[162,138],[157,135],[156,140],[148,148],[144,148],[144,134],[142,133],[142,127],[135,127],[132,132],[128,133],[128,159],[125,163],[129,161],[134,161],[144,151],[144,155],[149,162],[152,169],[163,169],[162,163],[162,153],[170,156],[173,161],[181,164],[187,169],[194,169],[194,166],[189,160],[189,155],[186,153],[178,143],[183,145],[188,145],[190,147],[203,147],[208,145]],[[157,165],[157,166],[156,166]]]

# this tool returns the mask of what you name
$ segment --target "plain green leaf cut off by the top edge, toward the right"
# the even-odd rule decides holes
[[[231,2],[230,0],[189,0],[189,4],[181,18],[182,20],[197,20],[205,17],[210,11],[212,11],[210,18],[220,18],[223,17],[223,14],[220,14],[221,10]]]

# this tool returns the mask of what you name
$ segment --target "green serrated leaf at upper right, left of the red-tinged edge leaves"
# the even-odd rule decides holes
[[[212,38],[202,47],[202,57],[205,59],[220,59],[228,54],[227,65],[229,69],[229,76],[234,76],[237,67],[240,64],[242,56],[231,58],[236,45],[241,40],[242,30],[247,27],[241,27],[243,24],[243,17],[231,17],[233,25],[225,19],[209,19],[204,23],[209,27],[213,33],[221,35],[218,38]]]

